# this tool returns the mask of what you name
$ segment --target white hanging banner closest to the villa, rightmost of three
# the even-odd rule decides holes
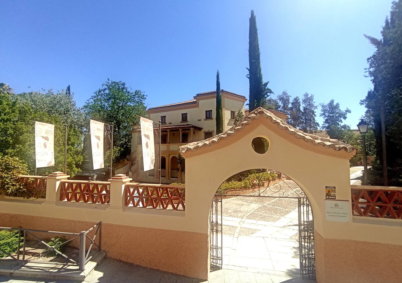
[[[142,139],[142,160],[144,171],[154,169],[155,145],[154,145],[154,124],[151,120],[141,117],[141,139]]]

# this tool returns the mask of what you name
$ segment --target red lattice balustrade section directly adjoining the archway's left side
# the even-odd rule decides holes
[[[125,206],[185,210],[183,185],[125,184]]]

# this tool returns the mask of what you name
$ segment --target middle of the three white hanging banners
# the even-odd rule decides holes
[[[92,164],[94,170],[104,168],[103,164],[103,130],[105,124],[102,122],[90,120],[89,128],[91,132]]]

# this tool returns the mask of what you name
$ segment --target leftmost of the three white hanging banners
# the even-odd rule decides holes
[[[54,125],[35,122],[36,167],[54,165]]]

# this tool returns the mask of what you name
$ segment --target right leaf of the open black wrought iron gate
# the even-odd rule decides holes
[[[310,202],[300,197],[299,206],[299,255],[302,278],[316,279],[316,259],[314,256],[314,222]]]

